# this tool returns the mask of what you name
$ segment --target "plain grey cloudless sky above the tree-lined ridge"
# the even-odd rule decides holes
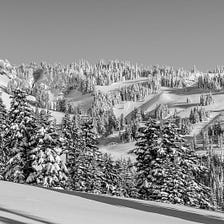
[[[0,58],[224,64],[224,0],[0,0]]]

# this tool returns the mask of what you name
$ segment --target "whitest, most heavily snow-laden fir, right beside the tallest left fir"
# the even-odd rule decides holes
[[[32,172],[26,179],[27,183],[45,187],[65,188],[68,170],[62,161],[63,139],[59,137],[53,121],[49,120],[49,112],[41,112],[41,122],[35,136],[38,143],[29,152]]]

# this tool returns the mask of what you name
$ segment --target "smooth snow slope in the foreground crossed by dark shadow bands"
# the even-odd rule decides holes
[[[224,223],[224,214],[185,206],[58,192],[0,181],[0,223]]]

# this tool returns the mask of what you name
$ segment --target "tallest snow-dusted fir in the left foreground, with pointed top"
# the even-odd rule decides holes
[[[37,124],[34,112],[27,102],[26,93],[19,89],[13,92],[8,122],[3,136],[7,160],[4,179],[25,182],[32,169],[28,155],[30,150],[36,147],[34,136]]]

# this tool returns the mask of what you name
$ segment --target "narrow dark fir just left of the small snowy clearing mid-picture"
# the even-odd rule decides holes
[[[96,146],[96,134],[91,121],[81,125],[78,151],[75,164],[71,167],[73,189],[85,192],[101,192],[102,172],[100,170],[101,152]]]

